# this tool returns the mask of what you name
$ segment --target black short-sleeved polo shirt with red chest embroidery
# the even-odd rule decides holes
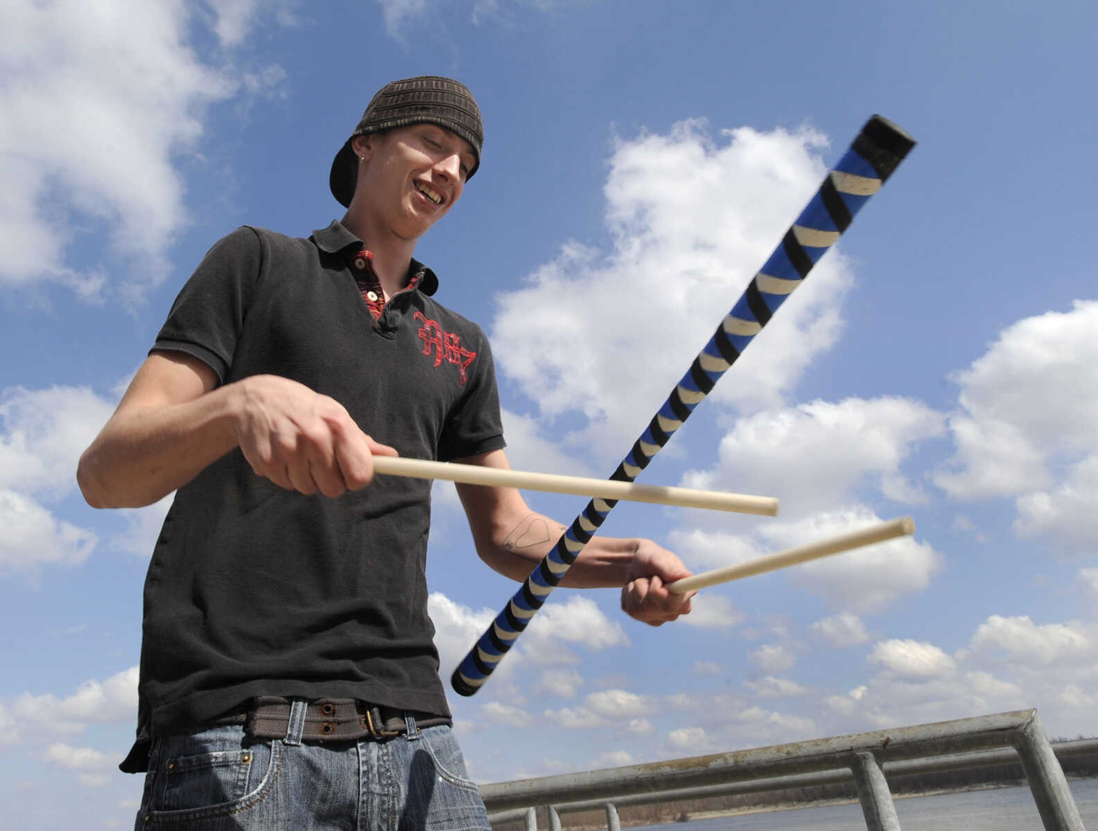
[[[155,350],[223,383],[270,373],[341,403],[401,456],[504,446],[488,339],[412,288],[374,321],[369,268],[339,223],[294,239],[242,227],[187,282]],[[145,582],[138,741],[202,726],[260,695],[358,698],[449,715],[427,617],[430,483],[379,476],[330,499],[284,491],[234,450],[179,489]]]

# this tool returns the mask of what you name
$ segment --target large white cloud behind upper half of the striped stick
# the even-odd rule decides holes
[[[586,428],[572,438],[596,453],[635,439],[819,186],[824,142],[807,130],[747,127],[715,141],[684,122],[619,143],[605,188],[613,248],[568,244],[525,288],[498,296],[502,371],[542,415],[582,415]],[[847,260],[828,254],[760,335],[766,342],[738,363],[738,383],[710,397],[780,403],[838,337],[851,281]],[[637,367],[645,372],[628,371]]]

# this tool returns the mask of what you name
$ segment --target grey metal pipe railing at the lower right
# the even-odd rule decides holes
[[[1064,742],[1062,755],[1093,753],[1098,741]],[[1083,831],[1056,751],[1037,710],[940,721],[715,753],[627,767],[519,779],[481,787],[493,822],[524,819],[536,831],[535,808],[548,807],[551,831],[564,812],[677,799],[751,794],[853,781],[869,831],[899,831],[887,776],[1021,762],[1045,831]]]

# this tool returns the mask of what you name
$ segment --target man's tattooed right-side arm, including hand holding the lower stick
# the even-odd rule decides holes
[[[509,468],[503,450],[458,460],[466,464]],[[472,529],[477,553],[492,569],[523,581],[549,552],[565,526],[526,505],[513,487],[459,484],[458,495]],[[561,581],[574,588],[621,588],[621,608],[646,624],[659,626],[685,615],[691,597],[664,587],[691,575],[672,552],[646,539],[595,536]]]

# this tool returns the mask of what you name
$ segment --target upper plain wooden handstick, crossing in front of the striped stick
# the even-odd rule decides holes
[[[480,464],[433,462],[426,459],[404,459],[394,456],[373,457],[373,471],[389,476],[444,479],[469,485],[495,485],[527,491],[548,491],[598,499],[626,499],[682,508],[728,510],[737,514],[777,516],[777,499],[773,496],[750,496],[720,491],[696,491],[691,487],[643,485],[606,479],[563,476],[556,473],[530,473]]]

